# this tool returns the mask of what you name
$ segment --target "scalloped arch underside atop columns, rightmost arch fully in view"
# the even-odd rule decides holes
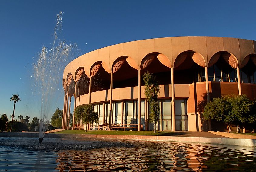
[[[237,58],[232,53],[229,53],[227,51],[220,51],[211,56],[207,67],[211,67],[212,65],[214,65],[221,56],[225,60],[225,62],[227,62],[232,68],[238,68]]]

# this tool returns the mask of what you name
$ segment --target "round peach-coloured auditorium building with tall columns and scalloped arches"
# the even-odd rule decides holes
[[[214,97],[256,98],[256,41],[227,37],[167,37],[120,43],[86,53],[63,73],[62,129],[74,107],[93,104],[99,123],[153,130],[143,74],[160,84],[158,131],[207,130],[203,106]],[[73,110],[72,110],[73,111]],[[72,129],[81,129],[73,118]],[[131,125],[134,124],[134,125]],[[128,128],[129,129],[129,128]],[[133,128],[134,129],[134,128]]]

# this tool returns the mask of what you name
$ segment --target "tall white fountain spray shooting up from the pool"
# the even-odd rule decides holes
[[[59,38],[62,30],[62,11],[57,15],[57,23],[54,29],[54,41],[48,49],[43,46],[38,53],[38,61],[33,64],[36,89],[34,92],[39,95],[39,143],[42,143],[45,131],[48,129],[46,120],[55,105],[58,88],[61,87],[62,71],[66,64],[71,61],[72,50],[76,49],[75,43],[68,44]],[[32,77],[32,76],[31,76]]]

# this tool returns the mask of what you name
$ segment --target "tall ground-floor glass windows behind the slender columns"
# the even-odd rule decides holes
[[[126,101],[124,102],[123,112],[122,103],[112,103],[112,123],[113,124],[138,124],[138,101]],[[160,114],[157,122],[157,130],[166,131],[171,130],[172,118],[171,118],[171,100],[159,100]],[[103,114],[105,108],[105,116]],[[150,104],[148,104],[147,113],[150,114]],[[94,123],[95,129],[100,124],[109,123],[109,104],[103,103],[94,104],[94,111],[99,114],[99,123]],[[123,113],[123,118],[122,118]],[[149,115],[148,115],[149,117]],[[122,121],[123,120],[123,121]],[[145,101],[141,101],[141,125],[145,130]],[[134,126],[133,126],[134,127]],[[149,123],[148,128],[154,129],[154,124]],[[133,130],[137,130],[136,128]],[[175,100],[175,130],[186,131],[188,130],[188,118],[187,118],[187,101],[186,99]]]

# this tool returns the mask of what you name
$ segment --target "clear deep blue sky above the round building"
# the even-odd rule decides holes
[[[254,0],[0,0],[0,114],[12,114],[10,97],[19,94],[22,101],[16,104],[15,119],[39,116],[36,97],[28,89],[33,85],[29,77],[38,51],[53,43],[60,11],[63,39],[78,45],[79,51],[71,57],[75,59],[105,46],[158,37],[256,40],[255,7]],[[63,95],[60,87],[55,108],[63,109]]]

